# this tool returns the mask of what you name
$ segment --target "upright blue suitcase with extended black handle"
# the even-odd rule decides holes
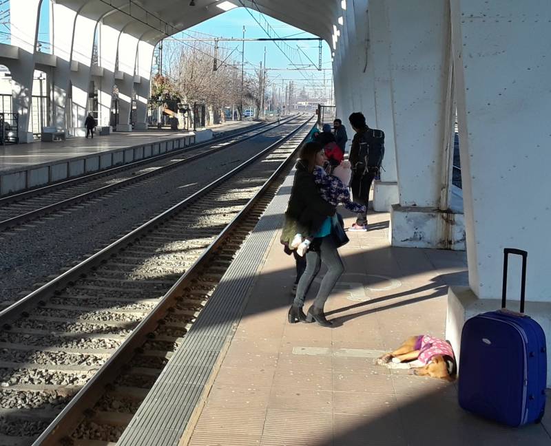
[[[507,260],[522,256],[521,311],[506,310]],[[509,426],[539,423],[545,410],[547,354],[539,323],[523,314],[528,253],[506,248],[501,310],[466,321],[461,332],[459,405]]]

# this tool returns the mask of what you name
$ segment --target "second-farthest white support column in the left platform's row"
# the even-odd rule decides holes
[[[118,70],[123,73],[123,79],[118,82],[118,125],[117,131],[132,131],[130,111],[134,90],[134,71],[136,69],[136,54],[138,39],[127,32],[121,32],[118,39]]]

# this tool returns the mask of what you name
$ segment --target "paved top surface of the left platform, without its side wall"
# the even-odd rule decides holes
[[[207,127],[217,132],[236,130],[256,124],[255,121],[229,121],[222,125]],[[114,132],[108,136],[94,138],[74,137],[65,141],[31,142],[30,144],[0,146],[0,173],[17,171],[25,167],[47,164],[59,160],[79,158],[103,151],[158,142],[183,137],[189,133],[171,130],[149,130],[132,132]]]

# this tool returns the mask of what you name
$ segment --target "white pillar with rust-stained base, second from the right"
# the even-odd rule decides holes
[[[393,246],[464,249],[463,215],[448,211],[450,12],[441,0],[384,2],[390,38],[391,93],[399,204]]]

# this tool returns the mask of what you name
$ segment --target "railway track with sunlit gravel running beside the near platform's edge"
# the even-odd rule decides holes
[[[0,312],[1,445],[116,441],[269,204],[305,125]]]

